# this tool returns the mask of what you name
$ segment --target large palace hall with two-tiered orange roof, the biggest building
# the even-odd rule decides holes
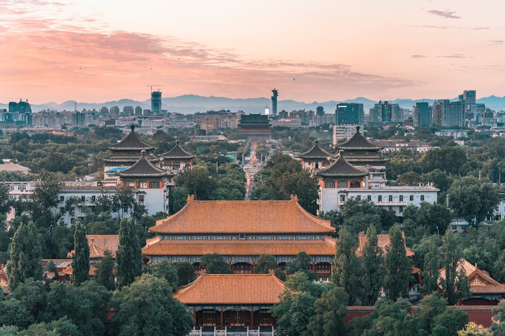
[[[278,267],[305,251],[320,278],[331,275],[335,229],[330,221],[309,214],[291,200],[194,200],[175,215],[156,222],[142,255],[149,262],[186,261],[199,270],[201,256],[220,253],[235,274],[254,274],[261,254],[275,257]]]

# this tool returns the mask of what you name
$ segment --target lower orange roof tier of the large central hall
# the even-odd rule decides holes
[[[143,255],[308,255],[335,254],[335,240],[159,240],[142,248]]]

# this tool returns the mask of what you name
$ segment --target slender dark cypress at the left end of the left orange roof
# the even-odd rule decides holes
[[[75,286],[89,280],[89,245],[86,238],[86,228],[80,221],[75,222],[72,268],[72,279]]]

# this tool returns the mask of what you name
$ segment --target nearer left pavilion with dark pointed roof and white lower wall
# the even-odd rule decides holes
[[[130,133],[131,134],[131,133]],[[145,150],[135,164],[124,170],[116,171],[121,183],[130,185],[136,190],[138,202],[145,206],[147,214],[168,212],[168,188],[165,188],[165,178],[168,172],[155,166],[145,157]]]

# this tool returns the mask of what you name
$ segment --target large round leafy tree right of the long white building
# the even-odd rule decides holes
[[[447,193],[455,215],[475,223],[492,214],[500,200],[496,188],[487,178],[479,180],[475,176],[455,180]]]

